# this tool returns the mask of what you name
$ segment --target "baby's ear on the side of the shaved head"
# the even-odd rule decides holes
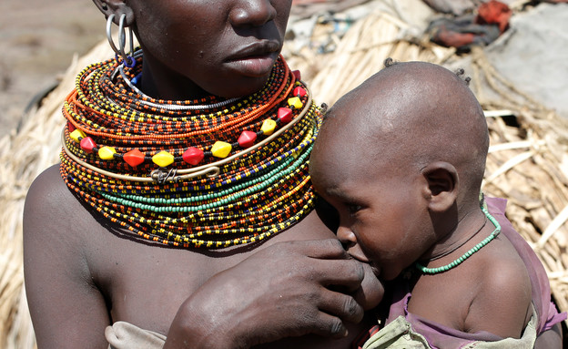
[[[458,196],[458,171],[449,162],[437,161],[426,166],[421,172],[426,180],[424,197],[429,201],[429,210],[450,210]]]

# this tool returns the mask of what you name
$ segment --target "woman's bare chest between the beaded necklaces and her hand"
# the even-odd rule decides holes
[[[94,236],[86,252],[87,263],[93,281],[106,298],[111,321],[126,321],[167,334],[180,305],[216,273],[279,241],[333,235],[313,215],[263,245],[229,251],[165,248],[106,230],[96,231]]]

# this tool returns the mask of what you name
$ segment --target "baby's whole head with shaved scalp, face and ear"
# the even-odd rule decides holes
[[[384,280],[479,210],[487,124],[467,84],[423,62],[385,67],[330,108],[310,159],[338,237]]]

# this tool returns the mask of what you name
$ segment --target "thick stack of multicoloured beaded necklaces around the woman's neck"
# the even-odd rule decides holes
[[[66,98],[60,172],[82,200],[136,240],[188,249],[262,241],[313,209],[320,108],[282,57],[252,96],[191,101],[139,91],[142,59],[86,67]]]

